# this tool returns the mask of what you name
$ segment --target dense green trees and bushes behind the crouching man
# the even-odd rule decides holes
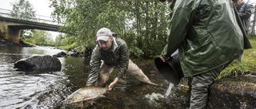
[[[67,46],[77,43],[94,47],[95,34],[102,27],[118,33],[129,45],[132,56],[154,57],[166,45],[166,27],[170,20],[166,3],[155,0],[50,1],[50,6],[54,7],[53,17],[64,25],[62,31],[72,36],[72,41],[65,37]]]

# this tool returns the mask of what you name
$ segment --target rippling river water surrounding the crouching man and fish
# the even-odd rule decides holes
[[[14,63],[27,56],[50,55],[61,49],[51,47],[0,47],[0,108],[126,108],[157,109],[186,108],[180,94],[182,87],[172,89],[173,94],[165,97],[165,80],[158,72],[142,71],[158,86],[142,84],[133,77],[124,76],[122,80],[104,96],[84,103],[64,104],[72,92],[86,85],[89,61],[82,57],[58,57],[62,63],[60,72],[22,72],[14,68]],[[114,70],[114,72],[116,72]],[[113,72],[113,73],[114,73]],[[109,82],[114,80],[114,74]],[[109,84],[109,83],[107,83]]]

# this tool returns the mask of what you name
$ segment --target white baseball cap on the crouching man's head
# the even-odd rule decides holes
[[[96,34],[97,41],[107,41],[110,38],[110,36],[112,36],[112,32],[110,31],[110,29],[107,28],[98,29],[98,32]]]

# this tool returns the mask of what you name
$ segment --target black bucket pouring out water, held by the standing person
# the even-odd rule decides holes
[[[154,58],[154,64],[162,76],[174,85],[179,84],[184,76],[179,62],[178,51],[173,53],[170,59],[166,60],[166,62],[161,60],[161,56],[156,56]]]

